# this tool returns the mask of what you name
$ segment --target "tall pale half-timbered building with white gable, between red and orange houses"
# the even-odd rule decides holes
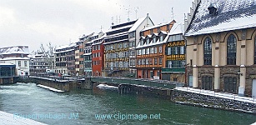
[[[135,46],[138,42],[139,31],[153,22],[148,17],[113,25],[106,32],[104,48],[104,72],[105,76],[129,77],[136,72]]]

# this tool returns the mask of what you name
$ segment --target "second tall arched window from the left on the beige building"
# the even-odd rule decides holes
[[[236,64],[237,39],[231,34],[227,41],[227,65]]]

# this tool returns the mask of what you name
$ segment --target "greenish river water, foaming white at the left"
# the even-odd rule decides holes
[[[247,113],[180,105],[152,96],[118,94],[113,89],[52,92],[34,83],[0,86],[0,110],[13,113],[13,118],[30,117],[54,125],[256,122],[256,116]]]

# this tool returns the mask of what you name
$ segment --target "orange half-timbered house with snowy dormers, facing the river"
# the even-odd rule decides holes
[[[165,42],[175,21],[144,28],[140,34],[137,51],[137,77],[161,79],[165,66]]]

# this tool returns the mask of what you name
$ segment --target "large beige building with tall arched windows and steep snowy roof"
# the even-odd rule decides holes
[[[256,96],[255,19],[250,0],[195,0],[185,22],[188,86]]]

